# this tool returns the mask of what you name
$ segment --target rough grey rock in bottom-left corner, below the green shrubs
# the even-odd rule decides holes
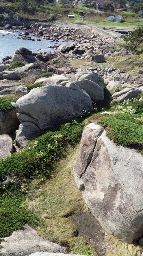
[[[39,237],[36,231],[25,224],[24,230],[14,231],[12,236],[4,238],[0,256],[25,256],[36,252],[66,253],[64,247]]]

